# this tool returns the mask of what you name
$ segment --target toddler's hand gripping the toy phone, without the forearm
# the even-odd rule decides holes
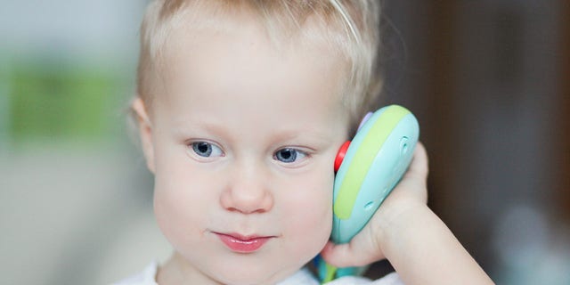
[[[386,258],[384,245],[389,241],[389,236],[394,236],[390,232],[401,230],[399,221],[405,216],[414,215],[416,208],[427,207],[427,177],[428,156],[424,146],[418,142],[408,171],[371,221],[350,243],[336,245],[329,241],[322,249],[322,257],[337,267],[368,265]]]

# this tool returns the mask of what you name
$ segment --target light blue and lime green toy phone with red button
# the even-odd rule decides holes
[[[353,141],[341,147],[335,161],[332,241],[346,243],[368,223],[410,165],[418,137],[418,120],[398,105],[362,120]],[[317,263],[322,282],[365,269],[335,268],[322,259]]]

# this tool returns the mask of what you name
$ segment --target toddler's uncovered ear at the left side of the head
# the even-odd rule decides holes
[[[154,143],[152,141],[152,125],[149,115],[142,102],[141,97],[136,97],[131,105],[134,110],[136,119],[139,126],[139,136],[141,137],[142,151],[144,152],[144,158],[146,159],[146,165],[149,170],[154,174]]]

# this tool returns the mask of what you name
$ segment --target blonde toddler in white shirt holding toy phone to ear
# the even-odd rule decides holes
[[[152,1],[132,109],[174,254],[120,284],[318,284],[319,253],[397,272],[330,284],[492,283],[427,207],[421,144],[362,232],[329,241],[333,161],[378,102],[378,27],[375,1]]]

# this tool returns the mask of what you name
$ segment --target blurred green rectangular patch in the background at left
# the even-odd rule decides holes
[[[53,62],[12,65],[9,77],[13,142],[101,141],[120,128],[125,82],[118,74]]]

